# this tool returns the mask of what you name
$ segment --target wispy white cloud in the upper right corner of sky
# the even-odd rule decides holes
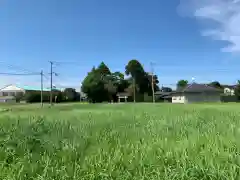
[[[184,14],[215,22],[202,35],[229,42],[225,52],[240,52],[240,0],[182,0],[180,8]]]

